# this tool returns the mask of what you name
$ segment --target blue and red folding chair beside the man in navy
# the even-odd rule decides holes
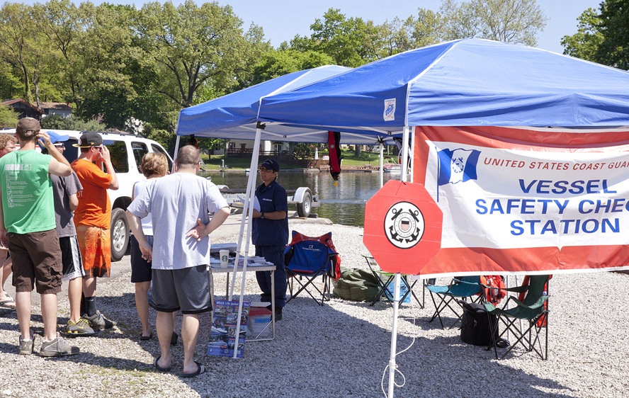
[[[290,292],[286,302],[293,300],[300,292],[307,292],[318,305],[330,300],[330,278],[338,279],[341,275],[341,258],[334,248],[331,232],[320,237],[307,237],[293,231],[293,239],[284,251],[284,263]],[[322,288],[314,284],[317,276],[322,277]],[[295,281],[299,288],[293,293]],[[320,301],[318,295],[321,295]]]

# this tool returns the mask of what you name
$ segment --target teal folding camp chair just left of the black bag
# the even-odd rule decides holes
[[[450,285],[426,285],[426,289],[430,292],[430,297],[435,305],[435,312],[429,322],[433,322],[435,318],[438,318],[443,328],[441,313],[446,308],[449,308],[450,311],[454,312],[456,315],[456,320],[452,326],[448,328],[452,329],[455,324],[460,321],[461,317],[463,317],[463,305],[460,304],[459,300],[467,300],[467,298],[472,298],[475,295],[478,295],[478,297],[472,299],[472,302],[482,300],[482,295],[480,295],[480,293],[482,293],[482,287],[479,283],[479,279],[480,277],[478,275],[463,276],[461,278],[453,278]],[[435,300],[435,296],[439,298],[438,303]],[[453,304],[455,305],[453,306]]]

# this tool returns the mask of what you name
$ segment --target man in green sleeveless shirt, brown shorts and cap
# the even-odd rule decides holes
[[[41,296],[44,341],[41,356],[79,353],[57,334],[57,293],[61,291],[62,262],[52,186],[48,174],[69,176],[68,161],[40,131],[38,120],[23,118],[16,127],[18,151],[0,159],[0,241],[13,258],[13,285],[20,324],[18,353],[33,353],[35,336],[30,331],[30,292]],[[52,157],[35,151],[40,142]]]

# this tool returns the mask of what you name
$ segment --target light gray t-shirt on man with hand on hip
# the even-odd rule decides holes
[[[227,207],[217,186],[190,173],[157,178],[129,205],[132,215],[153,217],[153,269],[181,269],[210,263],[209,237],[197,241],[186,234],[197,220]]]

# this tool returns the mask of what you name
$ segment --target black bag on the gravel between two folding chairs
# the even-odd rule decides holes
[[[489,314],[485,307],[477,302],[460,301],[463,305],[463,317],[461,318],[461,340],[475,346],[491,346],[492,345],[492,327],[496,326],[498,317]],[[489,324],[491,319],[491,325]],[[498,339],[498,328],[494,332],[494,340]]]

